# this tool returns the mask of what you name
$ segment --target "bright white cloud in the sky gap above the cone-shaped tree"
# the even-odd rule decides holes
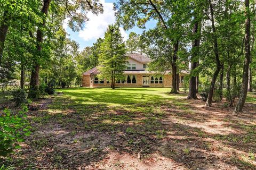
[[[85,23],[85,28],[79,31],[79,37],[85,41],[96,40],[100,37],[104,37],[104,32],[107,30],[109,24],[116,22],[115,12],[113,10],[113,3],[106,3],[105,0],[101,0],[104,12],[99,15],[88,13],[87,16],[90,19]],[[123,28],[119,28],[124,39],[127,39],[127,34]]]

